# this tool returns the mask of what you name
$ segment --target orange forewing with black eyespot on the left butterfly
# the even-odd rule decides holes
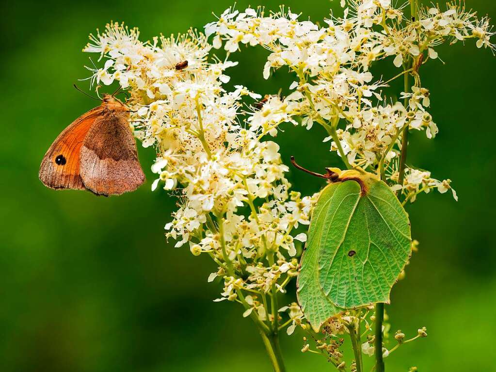
[[[55,189],[86,189],[79,174],[80,150],[86,134],[102,111],[102,106],[88,111],[55,139],[41,162],[38,174],[45,186]]]

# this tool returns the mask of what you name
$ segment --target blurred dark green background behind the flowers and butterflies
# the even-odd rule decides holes
[[[326,0],[285,3],[313,20],[339,7]],[[201,29],[212,11],[219,14],[230,4],[2,2],[0,371],[270,371],[242,309],[212,302],[219,283],[206,282],[214,269],[208,257],[165,242],[163,226],[175,201],[150,191],[153,150],[139,148],[147,183],[120,197],[56,192],[38,180],[40,161],[55,137],[96,105],[72,87],[88,76],[83,65],[89,55],[81,49],[90,32],[111,19],[140,27],[143,40],[189,26]],[[238,8],[248,4],[238,1]],[[467,4],[496,15],[494,1]],[[277,9],[278,2],[264,5]],[[420,251],[387,311],[393,329],[414,335],[425,325],[429,337],[401,347],[386,366],[496,371],[496,64],[490,51],[477,50],[473,42],[438,51],[447,64],[428,64],[423,84],[431,89],[440,132],[434,141],[412,135],[409,162],[439,179],[451,178],[460,201],[433,192],[408,208]],[[287,86],[285,70],[263,80],[264,56],[260,49],[235,55],[240,65],[230,71],[232,82],[261,93]],[[391,76],[392,61],[386,64],[381,72]],[[87,82],[79,84],[87,89]],[[338,165],[320,142],[323,136],[318,127],[282,133],[284,160],[298,155],[314,170]],[[322,186],[297,176],[289,175],[304,194]],[[301,336],[282,335],[288,370],[331,370],[323,358],[300,353]]]

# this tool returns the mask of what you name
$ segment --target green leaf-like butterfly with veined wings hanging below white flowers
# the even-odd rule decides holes
[[[410,257],[410,223],[398,199],[374,176],[357,177],[363,190],[354,180],[326,186],[311,218],[298,299],[314,330],[342,309],[389,303]]]

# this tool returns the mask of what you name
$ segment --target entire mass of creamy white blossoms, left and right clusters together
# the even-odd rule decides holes
[[[420,8],[413,19],[391,0],[341,4],[344,17],[331,14],[322,25],[284,7],[268,14],[262,7],[228,8],[205,26],[205,35],[189,30],[149,42],[139,40],[137,29],[111,23],[90,35],[84,49],[104,60],[101,68],[87,67],[97,89],[117,82],[130,94],[131,126],[144,147],[157,150],[152,189],[160,185],[179,197],[166,236],[194,255],[208,254],[218,266],[208,281],[224,280],[216,301],[240,302],[261,329],[276,331],[287,310],[288,333],[302,325],[294,304],[278,309],[277,294],[297,275],[298,261],[290,257],[295,241],[307,236],[296,229],[309,224],[316,201],[290,191],[279,145],[264,136],[276,136],[282,123],[321,125],[328,133],[323,140],[347,168],[377,172],[401,190],[403,203],[433,188],[444,193],[450,180],[406,167],[401,157],[409,130],[425,130],[428,138],[438,132],[419,70],[438,58],[434,48],[445,41],[476,39],[479,48],[495,49],[488,18],[459,3],[444,11]],[[226,70],[237,64],[230,57],[244,45],[269,51],[264,78],[282,66],[294,74],[285,96],[226,89]],[[209,60],[211,49],[222,47],[227,57]],[[374,79],[370,66],[382,59],[401,72]],[[382,91],[399,77],[403,103]],[[329,350],[334,355],[335,346]]]

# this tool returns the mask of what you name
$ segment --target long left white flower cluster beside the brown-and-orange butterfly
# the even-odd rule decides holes
[[[105,59],[92,69],[93,81],[118,81],[130,93],[135,134],[144,147],[157,148],[152,189],[161,185],[179,196],[166,236],[217,263],[208,280],[224,278],[219,301],[241,301],[246,316],[256,308],[253,314],[267,320],[259,301],[284,292],[296,275],[298,261],[286,257],[296,255],[295,240],[306,241],[295,231],[309,224],[315,200],[289,190],[279,145],[262,141],[265,127],[255,124],[261,111],[251,125],[240,124],[244,100],[261,96],[243,86],[225,90],[225,70],[236,63],[207,62],[211,46],[202,34],[142,43],[136,29],[112,23],[90,39],[85,51]]]

